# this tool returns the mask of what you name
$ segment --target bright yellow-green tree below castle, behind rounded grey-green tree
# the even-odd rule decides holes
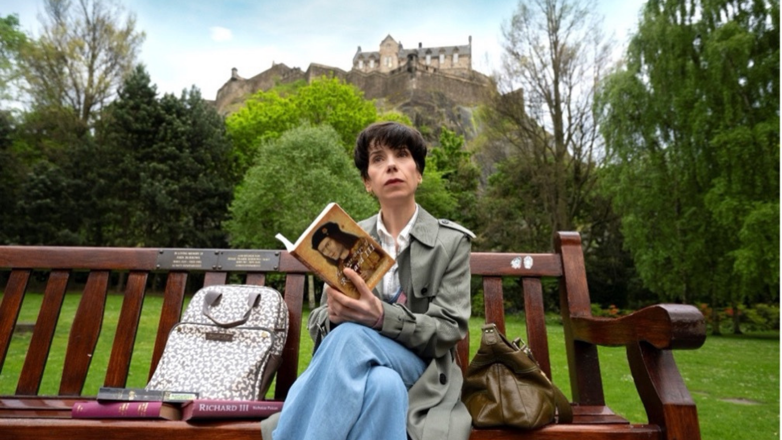
[[[343,151],[352,152],[358,133],[377,119],[375,104],[364,99],[361,90],[322,77],[286,96],[274,89],[256,92],[226,124],[242,171],[252,165],[261,143],[278,139],[300,124],[331,125],[339,133]]]

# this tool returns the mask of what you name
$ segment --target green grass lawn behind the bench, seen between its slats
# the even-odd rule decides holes
[[[27,294],[20,323],[34,323],[42,295]],[[59,388],[70,323],[80,295],[66,295],[63,312],[57,326],[55,341],[44,372],[41,395],[54,395]],[[108,356],[117,328],[122,297],[109,295],[103,334],[92,359],[84,395],[94,395],[102,385]],[[149,359],[155,343],[157,316],[162,298],[149,296],[142,312],[139,332],[127,386],[143,387],[149,377]],[[306,319],[304,319],[306,324]],[[479,334],[482,320],[471,320],[472,334]],[[520,316],[508,316],[508,337],[524,337],[524,322]],[[567,362],[562,341],[562,327],[548,326],[551,342],[551,365],[554,382],[569,395]],[[13,394],[30,343],[30,333],[13,337],[5,366],[0,372],[0,395]],[[478,348],[479,338],[473,338],[471,356]],[[698,405],[698,417],[704,440],[762,440],[780,438],[780,339],[779,334],[743,335],[741,337],[708,337],[698,350],[677,351],[676,362]],[[312,342],[302,329],[300,372],[310,362]],[[605,399],[616,413],[633,423],[645,423],[643,406],[637,398],[633,378],[627,366],[623,348],[600,349]]]

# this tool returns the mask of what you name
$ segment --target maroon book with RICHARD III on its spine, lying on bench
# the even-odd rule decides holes
[[[182,404],[182,420],[264,419],[281,409],[279,400],[195,399]]]

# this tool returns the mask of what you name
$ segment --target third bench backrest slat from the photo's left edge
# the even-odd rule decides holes
[[[108,290],[109,271],[90,272],[68,337],[59,395],[81,395],[98,344]]]

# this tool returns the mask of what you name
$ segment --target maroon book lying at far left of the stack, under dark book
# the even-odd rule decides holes
[[[74,419],[167,419],[180,420],[178,405],[166,402],[76,402]]]

